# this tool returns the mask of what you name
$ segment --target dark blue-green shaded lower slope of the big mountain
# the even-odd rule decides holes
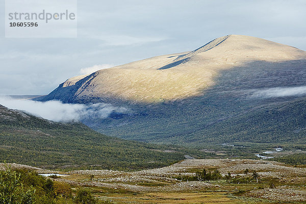
[[[257,89],[306,86],[305,79],[306,60],[250,62],[220,71],[200,96],[155,105],[125,101],[134,114],[83,122],[107,135],[146,142],[300,142],[305,96],[249,96]]]

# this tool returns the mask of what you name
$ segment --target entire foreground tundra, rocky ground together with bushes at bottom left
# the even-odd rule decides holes
[[[37,173],[50,172],[45,169],[10,165],[0,171],[0,203],[306,203],[306,169],[274,161],[184,160],[132,172],[73,170],[54,178]]]

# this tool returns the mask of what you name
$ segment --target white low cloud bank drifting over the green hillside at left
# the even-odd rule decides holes
[[[17,100],[10,97],[0,97],[0,104],[10,109],[18,109],[32,115],[53,121],[81,120],[88,117],[106,118],[112,112],[124,113],[123,107],[114,107],[110,104],[63,104],[58,100],[46,102],[33,100]]]

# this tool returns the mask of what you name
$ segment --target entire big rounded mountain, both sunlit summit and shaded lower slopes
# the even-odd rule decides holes
[[[193,50],[68,79],[40,100],[110,103],[128,113],[82,122],[125,139],[201,145],[303,143],[306,52],[228,35]]]

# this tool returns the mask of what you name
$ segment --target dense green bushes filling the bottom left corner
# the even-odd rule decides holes
[[[0,171],[0,204],[7,203],[54,204],[74,201],[68,184],[53,182],[36,172],[7,168]]]

